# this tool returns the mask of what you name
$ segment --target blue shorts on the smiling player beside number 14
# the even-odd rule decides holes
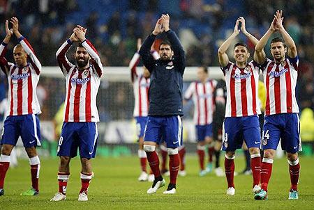
[[[257,115],[225,118],[223,122],[223,151],[235,151],[242,147],[260,148],[260,122]]]

